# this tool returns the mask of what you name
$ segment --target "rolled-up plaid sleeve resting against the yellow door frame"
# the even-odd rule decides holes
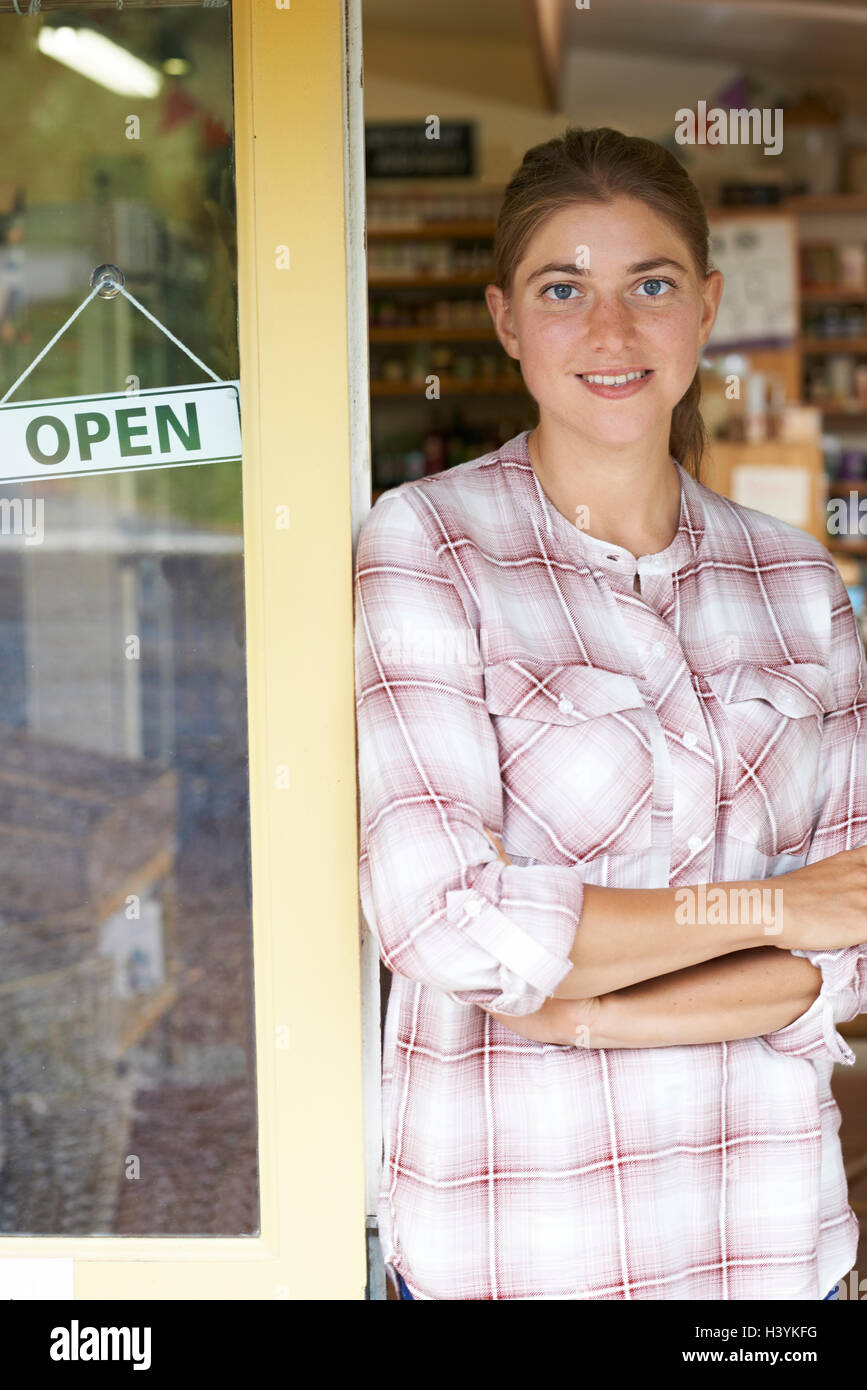
[[[502,834],[503,787],[484,634],[425,507],[386,492],[358,537],[361,908],[390,970],[459,1004],[534,1013],[571,969],[584,880],[504,865],[485,833]]]

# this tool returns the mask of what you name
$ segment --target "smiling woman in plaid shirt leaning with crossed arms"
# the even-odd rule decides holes
[[[670,153],[531,149],[495,263],[539,424],[383,493],[357,550],[383,1257],[413,1298],[829,1297],[835,1023],[867,1008],[852,606],[818,541],[699,481],[722,286]]]

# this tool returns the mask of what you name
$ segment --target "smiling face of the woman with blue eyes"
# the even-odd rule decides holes
[[[521,363],[540,418],[596,445],[664,441],[688,391],[722,292],[699,277],[686,242],[639,199],[553,213],[515,267],[510,299],[485,297],[497,336]],[[632,377],[593,382],[588,377]]]

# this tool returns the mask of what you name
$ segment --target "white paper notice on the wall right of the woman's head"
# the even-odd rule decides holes
[[[707,348],[768,348],[792,342],[798,320],[795,220],[763,214],[716,217],[710,260],[722,271],[722,299]]]

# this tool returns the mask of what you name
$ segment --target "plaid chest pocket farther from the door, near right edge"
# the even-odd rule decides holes
[[[814,662],[739,662],[704,677],[732,759],[728,831],[763,855],[804,855],[813,831],[831,673]]]

